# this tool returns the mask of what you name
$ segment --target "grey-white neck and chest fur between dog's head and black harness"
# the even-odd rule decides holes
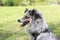
[[[32,22],[26,25],[26,28],[30,33],[38,32],[41,33],[45,29],[48,29],[48,25],[43,19],[32,20]]]

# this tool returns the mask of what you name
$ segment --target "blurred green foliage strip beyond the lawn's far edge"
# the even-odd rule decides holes
[[[60,4],[60,0],[0,0],[0,6]]]

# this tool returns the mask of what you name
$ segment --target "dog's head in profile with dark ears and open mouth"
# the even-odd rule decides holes
[[[18,19],[18,22],[21,23],[21,26],[25,26],[31,23],[33,20],[42,18],[41,14],[36,9],[29,10],[26,8],[24,13],[24,17]]]

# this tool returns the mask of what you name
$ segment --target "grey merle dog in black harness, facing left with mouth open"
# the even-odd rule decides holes
[[[57,40],[42,17],[42,13],[36,9],[24,11],[23,18],[18,19],[20,27],[25,27],[29,40]]]

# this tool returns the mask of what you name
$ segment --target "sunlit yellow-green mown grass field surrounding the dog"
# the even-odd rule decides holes
[[[36,8],[43,13],[43,18],[51,30],[60,36],[60,6],[0,7],[0,40],[28,40],[24,27],[17,20],[24,15],[25,8]]]

